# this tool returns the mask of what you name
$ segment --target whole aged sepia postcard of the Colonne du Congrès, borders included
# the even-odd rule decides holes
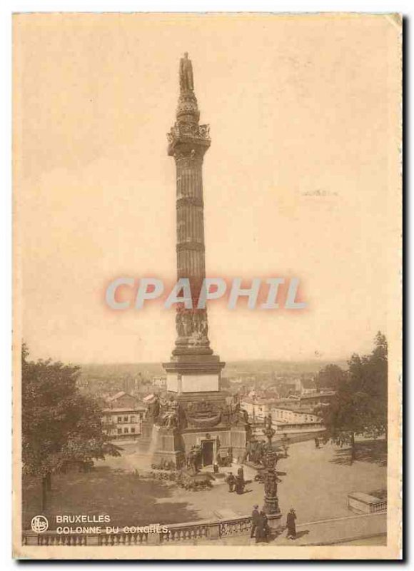
[[[401,36],[14,15],[15,557],[401,557]]]

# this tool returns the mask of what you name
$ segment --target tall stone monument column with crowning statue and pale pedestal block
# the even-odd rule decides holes
[[[185,54],[180,61],[176,122],[167,138],[168,155],[176,162],[177,277],[188,279],[193,303],[192,308],[178,304],[176,343],[171,360],[163,363],[163,368],[167,373],[167,390],[177,393],[183,408],[190,407],[190,418],[198,414],[201,400],[211,418],[217,418],[220,410],[226,409],[221,394],[221,370],[225,363],[210,348],[206,308],[197,308],[206,277],[203,158],[211,144],[210,128],[200,125],[199,120],[193,66]],[[208,411],[200,414],[206,416]]]

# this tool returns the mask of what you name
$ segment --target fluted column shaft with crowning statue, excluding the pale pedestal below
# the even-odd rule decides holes
[[[188,278],[193,308],[178,305],[176,348],[173,355],[211,355],[206,309],[197,309],[203,279],[204,258],[203,156],[210,146],[208,125],[199,125],[200,111],[191,81],[181,78],[176,123],[168,133],[168,155],[176,161],[177,277]],[[180,66],[182,69],[182,65]]]

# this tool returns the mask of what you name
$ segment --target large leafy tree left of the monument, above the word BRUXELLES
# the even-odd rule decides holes
[[[22,461],[25,474],[41,478],[42,509],[46,510],[51,475],[70,462],[89,462],[119,455],[101,426],[101,408],[77,386],[79,367],[29,361],[21,352]]]

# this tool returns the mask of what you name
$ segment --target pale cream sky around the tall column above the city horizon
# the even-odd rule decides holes
[[[116,312],[104,293],[119,276],[175,279],[166,132],[184,51],[211,126],[207,275],[295,276],[308,304],[212,303],[213,350],[370,351],[397,283],[399,33],[390,16],[14,16],[15,312],[31,356],[168,360],[173,311]]]

